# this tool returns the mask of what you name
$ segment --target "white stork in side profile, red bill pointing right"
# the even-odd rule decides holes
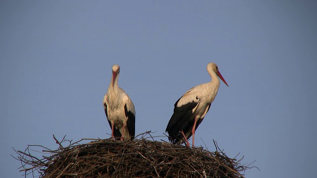
[[[174,113],[165,130],[171,143],[182,144],[186,141],[186,146],[189,147],[188,139],[193,135],[194,146],[195,131],[209,111],[218,92],[220,85],[218,77],[228,86],[216,64],[209,63],[207,71],[211,76],[211,82],[189,89],[174,104]]]

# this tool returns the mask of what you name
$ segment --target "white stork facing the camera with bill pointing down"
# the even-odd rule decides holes
[[[111,128],[111,137],[133,139],[135,135],[135,109],[127,93],[118,86],[119,65],[112,66],[112,77],[104,96],[104,108]]]

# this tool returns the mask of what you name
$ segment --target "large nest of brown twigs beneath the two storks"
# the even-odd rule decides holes
[[[41,145],[28,145],[16,151],[25,177],[41,178],[244,178],[248,166],[230,159],[222,151],[210,152],[203,147],[155,141],[150,132],[140,139],[81,139],[72,143],[65,137],[57,150]],[[149,140],[149,138],[151,140]],[[88,143],[82,143],[89,140]],[[67,143],[64,147],[62,144]],[[216,145],[218,150],[218,146]],[[45,149],[42,158],[32,156],[34,147]]]

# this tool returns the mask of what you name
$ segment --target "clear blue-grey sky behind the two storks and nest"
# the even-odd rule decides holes
[[[196,145],[256,162],[247,178],[315,177],[317,2],[0,1],[0,177],[16,150],[66,135],[108,138],[111,66],[136,107],[136,134],[163,135],[176,100],[222,82]],[[168,140],[167,137],[158,139]],[[202,141],[204,140],[204,142]]]

